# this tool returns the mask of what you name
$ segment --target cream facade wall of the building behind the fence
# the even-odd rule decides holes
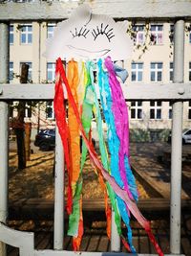
[[[53,21],[53,24],[56,22]],[[13,44],[11,44],[11,61],[13,62],[13,73],[14,78],[11,82],[19,82],[17,75],[20,74],[20,62],[32,62],[32,82],[47,82],[47,63],[53,62],[53,59],[46,59],[43,57],[43,53],[46,49],[46,38],[48,35],[48,23],[47,22],[32,22],[27,23],[32,25],[32,43],[22,44],[21,43],[21,33],[22,26],[25,24],[12,23],[13,25]],[[50,25],[51,23],[49,23]],[[145,25],[143,22],[138,23],[137,25]],[[128,26],[131,24],[128,23]],[[150,40],[150,26],[151,25],[162,25],[162,36],[163,40],[161,44],[153,44]],[[149,30],[144,34],[148,34],[146,38],[146,47],[147,49],[143,53],[143,46],[141,45],[138,49],[138,40],[135,40],[135,51],[132,59],[125,60],[124,62],[118,63],[123,65],[124,68],[128,70],[129,77],[126,81],[128,82],[148,82],[152,83],[150,79],[151,72],[151,62],[161,62],[162,63],[162,79],[159,82],[169,82],[170,81],[170,62],[173,61],[173,44],[170,42],[170,26],[169,22],[164,23],[150,23],[147,25]],[[186,23],[186,26],[190,26],[189,23]],[[190,32],[185,32],[185,51],[184,51],[184,81],[189,81],[189,62],[191,62],[191,42],[189,41]],[[125,58],[125,57],[124,57]],[[132,81],[132,62],[134,63],[143,63],[142,68],[142,80],[141,81]],[[155,84],[154,84],[155,86]],[[135,103],[136,104],[136,103]],[[171,128],[171,119],[169,119],[169,103],[162,102],[160,110],[160,119],[151,119],[150,118],[150,103],[142,102],[141,103],[141,118],[134,117],[132,115],[133,109],[138,107],[133,106],[132,103],[128,103],[129,113],[130,113],[130,128],[133,134],[138,138],[143,138],[145,136],[151,136],[153,131],[161,133],[159,136],[165,138]],[[137,105],[137,104],[136,104]],[[191,107],[191,106],[190,106]],[[184,103],[183,109],[183,128],[191,128],[191,119],[188,119],[188,103]],[[40,109],[40,110],[39,110]],[[53,118],[47,119],[46,114],[46,104],[40,105],[39,107],[34,107],[32,109],[32,118],[26,118],[26,121],[32,122],[32,128],[34,128],[33,133],[36,132],[36,128],[39,124],[39,128],[53,127],[54,120]],[[137,111],[136,110],[136,111]],[[40,117],[39,117],[40,112]],[[138,112],[138,111],[137,111]],[[163,133],[162,133],[163,132]],[[153,133],[152,133],[153,134]],[[138,136],[137,136],[138,135]],[[144,136],[143,136],[144,135]],[[135,137],[135,138],[136,138]],[[155,137],[155,135],[154,135]]]

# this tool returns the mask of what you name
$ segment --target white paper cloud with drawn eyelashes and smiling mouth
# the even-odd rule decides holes
[[[79,6],[68,20],[58,24],[47,39],[49,59],[131,58],[133,41],[122,24],[106,15],[94,14],[88,5]]]

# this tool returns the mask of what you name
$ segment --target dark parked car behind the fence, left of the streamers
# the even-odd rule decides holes
[[[96,145],[95,139],[92,139],[93,145]],[[35,136],[34,146],[39,147],[40,151],[53,150],[55,147],[55,129],[41,129]],[[82,146],[82,137],[80,137],[80,147]]]

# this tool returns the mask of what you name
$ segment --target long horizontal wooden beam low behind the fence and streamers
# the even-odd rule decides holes
[[[147,198],[138,201],[138,208],[144,213],[152,214],[156,212],[169,212],[170,199],[169,198]],[[184,210],[191,209],[191,199],[182,199],[181,208]],[[105,206],[103,199],[86,199],[83,200],[83,211],[86,212],[104,212]],[[95,214],[94,214],[95,215]],[[100,216],[100,214],[98,214]],[[104,215],[103,215],[104,216]],[[17,202],[10,202],[9,207],[10,220],[53,220],[53,200],[50,199],[28,199],[23,203],[23,200]],[[65,215],[67,218],[67,214]]]

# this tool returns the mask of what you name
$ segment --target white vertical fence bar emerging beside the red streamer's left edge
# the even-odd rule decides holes
[[[54,177],[54,222],[53,248],[63,249],[64,241],[64,152],[62,141],[55,129],[55,177]]]

